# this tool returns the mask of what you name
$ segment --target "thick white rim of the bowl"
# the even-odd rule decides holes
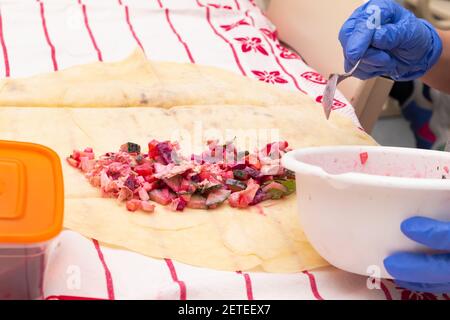
[[[443,158],[448,158],[450,161],[450,152],[436,151],[436,150],[424,150],[402,147],[384,147],[384,146],[319,146],[319,147],[306,147],[289,151],[282,158],[282,165],[294,171],[295,173],[303,173],[318,176],[325,179],[333,179],[349,184],[379,186],[387,188],[401,188],[401,189],[431,189],[431,190],[448,190],[450,191],[450,180],[448,179],[431,179],[431,178],[409,178],[409,177],[395,177],[395,176],[382,176],[372,175],[368,173],[360,172],[348,172],[332,174],[326,172],[319,166],[307,164],[300,160],[297,160],[297,156],[303,154],[327,154],[336,152],[337,150],[345,151],[357,151],[361,152],[392,152],[403,155],[439,155]]]

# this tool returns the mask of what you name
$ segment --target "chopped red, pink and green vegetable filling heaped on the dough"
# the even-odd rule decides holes
[[[266,200],[281,199],[295,192],[295,176],[281,166],[289,151],[285,141],[267,144],[254,153],[236,150],[233,142],[220,145],[208,141],[208,150],[183,157],[178,143],[127,142],[118,152],[98,159],[92,148],[74,150],[67,162],[85,173],[105,197],[126,202],[129,211],[153,212],[152,202],[173,211],[213,209],[225,201],[235,208],[247,208]]]

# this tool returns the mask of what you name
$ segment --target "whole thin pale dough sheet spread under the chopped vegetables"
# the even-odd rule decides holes
[[[203,81],[208,88],[204,90],[198,83],[190,85],[181,80],[175,85],[178,79],[172,79],[173,75],[162,83],[155,80],[153,91],[147,92],[148,87],[143,91],[136,89],[142,89],[142,83],[136,85],[139,68],[129,68],[133,63],[129,59],[123,63],[95,63],[50,75],[3,81],[0,139],[44,144],[61,158],[73,149],[87,146],[93,147],[97,155],[127,141],[145,146],[153,138],[172,139],[176,132],[184,140],[193,140],[198,126],[203,133],[211,130],[218,138],[232,134],[238,141],[245,140],[249,130],[276,129],[279,138],[289,141],[294,148],[374,144],[345,117],[332,114],[329,121],[325,120],[320,106],[302,94],[213,68],[169,63],[165,64],[168,69],[181,70],[171,71],[173,75],[183,74],[184,79],[203,81],[197,78],[195,70],[206,73],[212,70],[211,77],[217,74],[215,83],[229,90],[227,104],[216,104],[223,97],[214,96],[218,92],[215,86]],[[141,66],[146,63],[150,62],[139,62]],[[111,77],[105,78],[106,74]],[[144,78],[146,75],[142,74]],[[84,83],[90,83],[91,87]],[[52,87],[48,87],[50,84]],[[21,93],[13,93],[11,87]],[[208,90],[211,92],[204,92]],[[129,107],[142,92],[148,93],[146,106]],[[177,106],[185,98],[186,104]],[[242,102],[238,103],[239,99]],[[210,101],[212,104],[203,105]],[[58,107],[59,103],[64,107]],[[68,108],[72,103],[76,108]],[[107,108],[108,105],[112,107]],[[201,136],[199,144],[208,138],[211,136]],[[257,144],[267,142],[263,140]],[[65,227],[103,243],[219,270],[298,272],[327,264],[303,234],[295,196],[266,201],[247,210],[224,204],[209,211],[171,212],[156,205],[153,214],[130,213],[114,199],[101,198],[100,191],[65,161],[63,171]]]

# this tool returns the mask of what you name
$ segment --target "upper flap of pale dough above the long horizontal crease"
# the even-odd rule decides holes
[[[161,107],[306,103],[303,94],[214,67],[152,62],[136,50],[120,62],[0,81],[0,105],[27,107]]]

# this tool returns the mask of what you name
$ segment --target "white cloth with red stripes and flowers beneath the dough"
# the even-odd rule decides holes
[[[119,60],[139,46],[149,59],[222,67],[317,102],[325,84],[278,42],[274,26],[249,0],[0,0],[0,44],[2,77]],[[334,108],[358,123],[340,93]],[[45,277],[47,299],[449,298],[390,281],[370,290],[366,277],[331,267],[297,274],[220,272],[104,247],[71,231],[60,240]]]

